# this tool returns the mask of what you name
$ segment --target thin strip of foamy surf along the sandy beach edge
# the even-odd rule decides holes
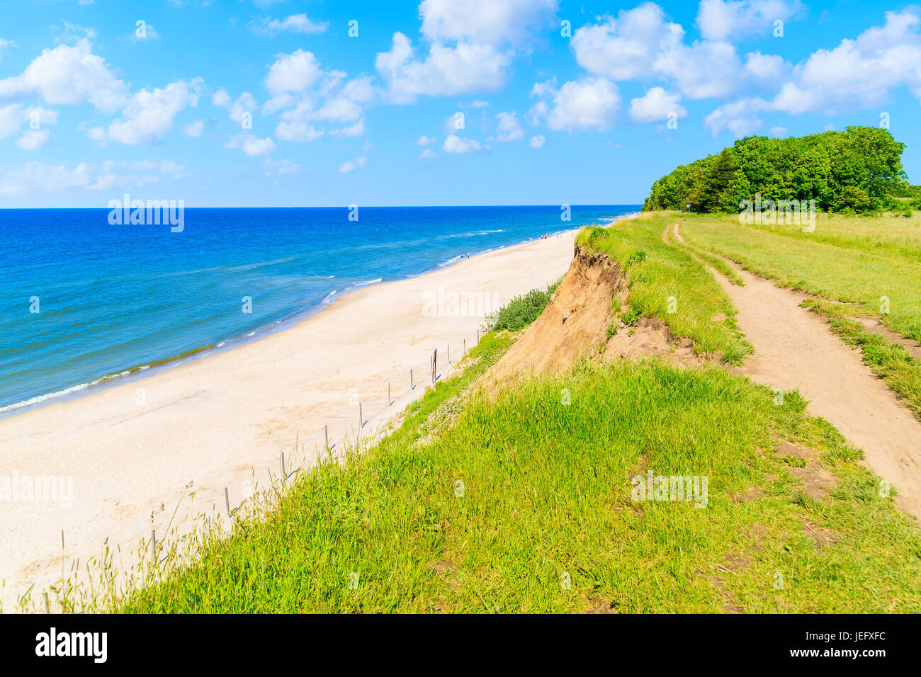
[[[608,221],[606,225],[610,226],[613,222],[627,216],[632,215],[614,216],[610,219],[605,218],[603,220]],[[575,228],[575,230],[578,230],[578,228]],[[557,235],[565,234],[570,230],[573,229],[570,228],[566,230],[558,230],[550,233],[549,237],[553,238]],[[509,247],[518,247],[519,245],[532,242],[535,239],[540,238],[525,239],[519,242],[513,242],[511,244],[499,245],[497,247],[491,247],[483,251],[477,251],[471,254],[471,258],[473,256],[480,256],[482,254],[490,253],[491,251],[500,251]],[[134,365],[134,367],[121,369],[119,371],[113,371],[109,374],[104,374],[102,376],[95,377],[81,383],[76,383],[72,386],[66,386],[57,391],[35,395],[34,397],[30,397],[27,400],[23,400],[17,403],[4,404],[0,406],[0,421],[3,421],[6,418],[10,418],[12,416],[16,416],[18,414],[24,414],[26,412],[48,406],[53,403],[72,402],[74,400],[90,396],[96,392],[117,387],[122,383],[131,383],[138,380],[147,379],[157,375],[160,372],[181,367],[182,365],[189,364],[192,361],[204,359],[207,356],[224,353],[229,350],[239,348],[245,344],[261,341],[263,338],[271,336],[274,333],[284,332],[296,326],[302,321],[309,320],[309,318],[321,313],[337,300],[344,298],[346,294],[356,292],[360,289],[365,289],[369,286],[385,285],[391,282],[400,282],[402,280],[408,280],[414,277],[435,273],[452,265],[456,265],[459,261],[462,260],[462,257],[458,256],[452,260],[449,260],[449,262],[437,263],[434,268],[429,268],[421,273],[406,274],[400,277],[394,277],[389,280],[378,279],[367,283],[356,283],[346,286],[342,290],[333,289],[323,298],[309,302],[308,306],[304,309],[296,310],[291,314],[288,314],[268,324],[263,324],[262,326],[256,327],[255,329],[244,330],[243,332],[234,336],[221,339],[216,344],[212,343],[193,346],[192,348],[189,348],[178,355],[154,358],[150,362]]]

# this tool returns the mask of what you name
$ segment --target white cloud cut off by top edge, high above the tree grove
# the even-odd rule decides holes
[[[724,41],[762,33],[802,10],[799,0],[701,0],[697,26],[705,40]]]

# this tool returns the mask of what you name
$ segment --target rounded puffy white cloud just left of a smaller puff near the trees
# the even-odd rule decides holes
[[[604,131],[614,123],[621,102],[617,85],[603,77],[570,80],[559,89],[549,82],[538,83],[530,95],[539,99],[530,110],[531,119],[554,130]]]

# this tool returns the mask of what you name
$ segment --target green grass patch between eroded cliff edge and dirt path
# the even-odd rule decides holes
[[[662,240],[662,231],[674,220],[670,215],[644,215],[612,228],[583,228],[576,244],[623,266],[630,286],[630,310],[621,317],[625,324],[638,317],[659,318],[671,333],[690,337],[698,352],[740,364],[752,346],[736,328],[737,311],[690,251]]]

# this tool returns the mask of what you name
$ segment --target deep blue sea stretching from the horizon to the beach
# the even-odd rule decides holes
[[[609,222],[638,204],[0,210],[0,414],[252,340],[350,289]],[[244,297],[251,312],[243,312]]]

